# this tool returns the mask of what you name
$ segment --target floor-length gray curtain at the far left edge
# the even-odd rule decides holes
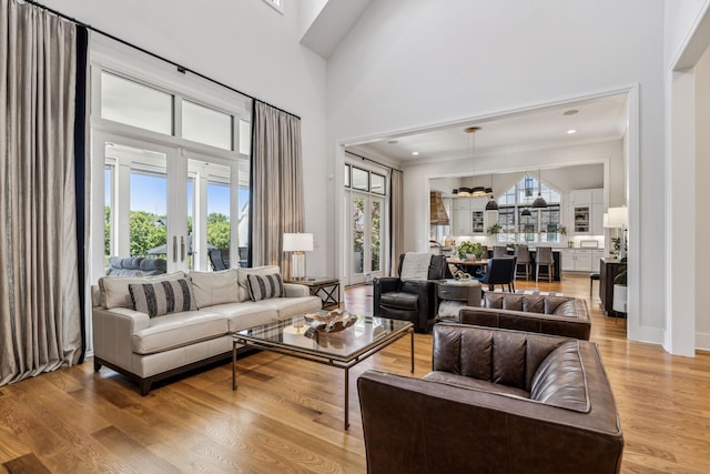
[[[75,27],[0,12],[0,385],[81,354],[74,191]]]

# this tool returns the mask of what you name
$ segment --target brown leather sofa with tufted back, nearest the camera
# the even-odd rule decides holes
[[[367,471],[618,473],[623,437],[597,345],[439,323],[434,371],[357,380]]]

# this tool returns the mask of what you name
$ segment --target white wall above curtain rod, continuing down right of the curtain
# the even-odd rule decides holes
[[[326,161],[326,63],[298,44],[298,11],[280,14],[261,0],[45,0],[69,17],[171,59],[302,118],[306,231],[318,248],[308,271],[328,274],[328,225],[323,219]],[[331,265],[332,266],[332,265]]]

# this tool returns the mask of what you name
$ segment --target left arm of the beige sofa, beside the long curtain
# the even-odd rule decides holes
[[[94,356],[133,372],[131,341],[135,332],[150,326],[148,314],[128,307],[100,306],[94,306],[91,313]]]

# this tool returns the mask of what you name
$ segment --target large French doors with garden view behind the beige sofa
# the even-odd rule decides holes
[[[239,260],[235,163],[105,132],[94,132],[92,148],[104,158],[105,218],[94,274],[113,255],[162,258],[169,272],[209,270],[211,251]]]

